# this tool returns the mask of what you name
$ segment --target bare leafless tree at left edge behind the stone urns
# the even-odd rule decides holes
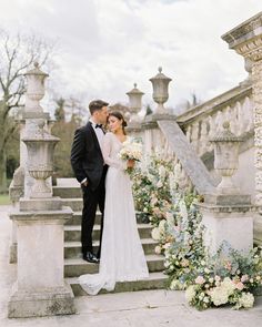
[[[54,43],[42,37],[12,37],[0,30],[0,190],[7,188],[6,146],[17,129],[13,116],[26,91],[23,74],[36,61],[46,64],[53,49]]]

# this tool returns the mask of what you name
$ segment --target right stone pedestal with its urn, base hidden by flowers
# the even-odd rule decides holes
[[[228,122],[224,131],[215,135],[214,168],[222,176],[213,194],[204,195],[204,203],[199,204],[202,222],[205,226],[204,244],[214,254],[225,241],[238,251],[248,253],[253,245],[253,210],[251,196],[241,194],[232,175],[238,170],[240,139],[230,131]]]

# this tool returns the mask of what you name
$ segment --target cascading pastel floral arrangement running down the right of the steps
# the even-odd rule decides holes
[[[243,255],[223,244],[210,257],[196,207],[202,197],[178,188],[172,160],[148,160],[133,175],[133,193],[137,210],[154,227],[155,253],[164,255],[170,289],[184,289],[188,303],[198,309],[253,306],[254,292],[262,286],[262,249]]]

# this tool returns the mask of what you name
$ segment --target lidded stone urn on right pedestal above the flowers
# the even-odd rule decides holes
[[[232,176],[239,166],[239,145],[241,137],[230,131],[230,123],[223,123],[223,131],[210,140],[214,144],[214,168],[222,180],[218,185],[219,193],[235,194],[239,188],[233,184]]]

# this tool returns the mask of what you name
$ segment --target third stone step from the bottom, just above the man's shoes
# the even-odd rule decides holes
[[[158,245],[152,238],[142,238],[141,239],[144,254],[154,254],[154,248]],[[98,251],[98,241],[93,242],[93,252],[97,253]],[[81,257],[81,243],[73,241],[73,242],[64,242],[64,258],[80,258]]]

